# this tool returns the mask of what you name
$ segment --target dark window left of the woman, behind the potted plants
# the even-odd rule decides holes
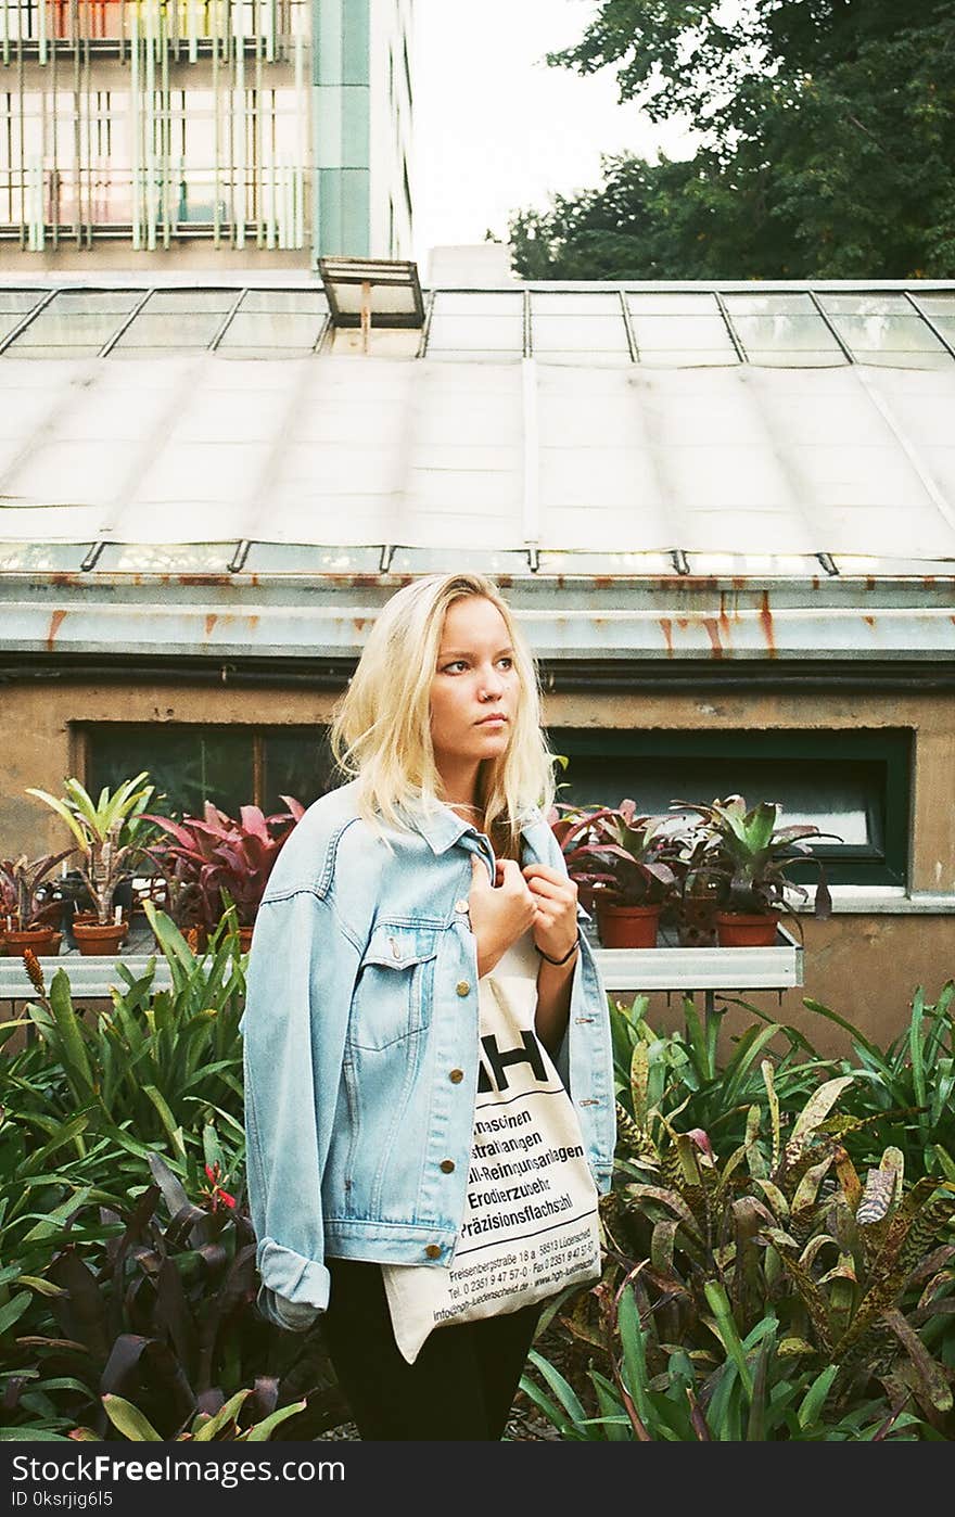
[[[153,809],[176,816],[200,816],[203,801],[229,816],[251,804],[284,812],[282,795],[308,806],[337,783],[325,727],[111,722],[84,737],[93,795],[146,769],[162,796]]]

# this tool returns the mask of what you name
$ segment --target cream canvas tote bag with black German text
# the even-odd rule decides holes
[[[506,959],[515,962],[513,950]],[[513,1312],[600,1276],[597,1188],[571,1098],[534,1033],[530,968],[478,981],[480,1079],[454,1258],[381,1267],[408,1364],[436,1327]]]

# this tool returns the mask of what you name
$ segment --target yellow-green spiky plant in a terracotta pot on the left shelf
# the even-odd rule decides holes
[[[79,875],[87,887],[96,921],[73,919],[73,936],[80,954],[115,953],[129,931],[129,919],[123,907],[115,904],[120,887],[132,875],[137,859],[152,834],[144,812],[153,796],[153,786],[146,784],[147,772],[123,780],[115,790],[108,786],[94,802],[79,780],[64,781],[64,795],[49,795],[46,790],[29,789],[46,806],[50,806],[67,824],[82,856]]]

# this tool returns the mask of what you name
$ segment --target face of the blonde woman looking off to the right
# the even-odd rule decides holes
[[[498,758],[510,742],[519,680],[496,605],[469,595],[448,607],[431,680],[431,743],[439,772]]]

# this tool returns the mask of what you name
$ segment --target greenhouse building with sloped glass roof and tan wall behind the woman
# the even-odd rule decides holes
[[[363,346],[305,275],[0,288],[3,854],[64,845],[26,790],[65,775],[310,801],[387,598],[477,569],[562,798],[741,792],[838,834],[782,1015],[897,1033],[955,974],[955,282],[422,308]]]

